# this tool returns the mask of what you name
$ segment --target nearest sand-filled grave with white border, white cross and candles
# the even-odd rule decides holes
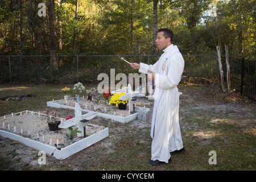
[[[47,126],[49,115],[47,114],[28,110],[11,113],[0,117],[2,122],[0,135],[63,160],[108,137],[108,127],[88,123],[95,115],[95,113],[82,114],[77,104],[75,118],[68,120],[58,118],[61,121],[59,130],[49,131]],[[73,141],[65,141],[64,137],[72,134],[70,131],[72,127],[72,130],[80,132],[75,132],[76,136],[73,136]]]

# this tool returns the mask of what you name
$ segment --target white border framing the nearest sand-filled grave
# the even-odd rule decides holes
[[[26,111],[22,111],[22,112],[15,113],[15,114],[20,114],[23,112],[26,112]],[[27,110],[27,112],[31,113],[32,111]],[[33,111],[33,113],[38,114],[34,111]],[[40,113],[40,115],[46,115],[46,114]],[[11,114],[6,115],[5,117],[10,117],[10,116],[11,116]],[[0,118],[4,118],[4,117],[0,117]],[[97,125],[94,125],[94,126],[97,126]],[[61,150],[56,150],[57,149],[56,147],[53,147],[49,144],[44,144],[39,141],[32,140],[30,138],[26,138],[26,137],[11,133],[9,131],[4,131],[1,129],[0,129],[0,135],[2,137],[10,138],[10,139],[16,140],[18,142],[21,142],[23,144],[26,144],[26,146],[34,148],[35,150],[45,151],[48,155],[51,155],[52,152],[54,151],[53,156],[56,159],[64,160],[64,159],[68,158],[69,156],[76,154],[77,152],[84,150],[85,148],[87,148],[89,146],[92,146],[92,144],[97,143],[100,140],[108,137],[109,136],[109,128],[106,127],[105,129],[101,130],[100,132],[98,132],[96,134],[90,135],[89,137],[81,139],[75,143],[69,144],[67,147],[61,148]]]

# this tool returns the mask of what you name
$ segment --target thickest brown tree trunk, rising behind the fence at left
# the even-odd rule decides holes
[[[48,0],[49,7],[49,55],[51,61],[51,68],[53,71],[58,70],[56,53],[57,53],[57,36],[56,36],[56,20],[55,20],[55,2],[54,0]]]

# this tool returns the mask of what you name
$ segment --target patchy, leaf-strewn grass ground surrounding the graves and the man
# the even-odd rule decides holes
[[[67,85],[65,85],[67,86]],[[71,87],[71,86],[70,86]],[[1,85],[0,96],[36,94],[26,101],[0,101],[0,115],[22,110],[45,110],[46,102],[61,98],[63,85]],[[90,88],[88,86],[86,89]],[[172,163],[153,167],[150,122],[137,127],[129,123],[101,119],[99,125],[109,127],[109,137],[72,155],[63,163],[51,157],[44,170],[255,170],[255,104],[251,102],[210,102],[203,92],[213,86],[180,86],[180,128],[184,154],[172,155]],[[218,93],[216,93],[218,94]],[[151,105],[152,106],[152,105]],[[221,107],[221,109],[220,109]],[[109,143],[109,145],[104,145]],[[216,151],[217,164],[210,165],[208,155]],[[14,160],[2,158],[6,166]]]

